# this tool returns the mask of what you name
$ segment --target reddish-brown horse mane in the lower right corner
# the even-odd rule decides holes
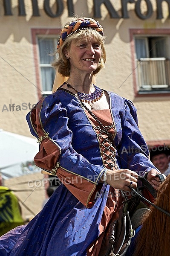
[[[170,175],[159,186],[155,204],[170,212]],[[144,216],[138,233],[133,256],[169,256],[170,255],[170,216],[151,207]]]

